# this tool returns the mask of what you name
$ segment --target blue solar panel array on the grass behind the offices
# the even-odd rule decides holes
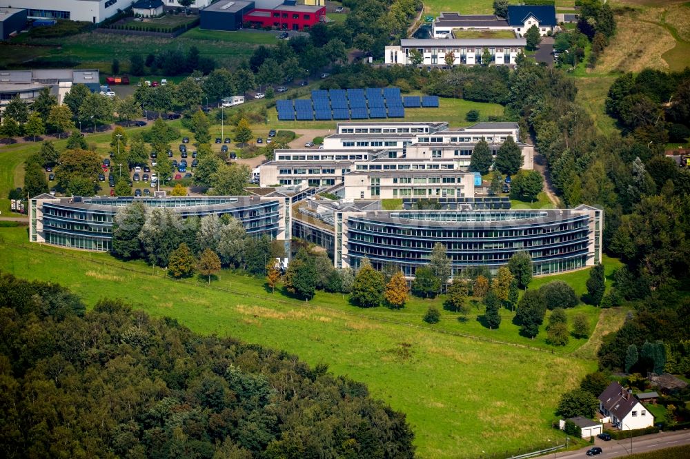
[[[311,99],[277,101],[279,120],[403,118],[405,108],[438,107],[438,96],[405,96],[400,88],[313,90]]]

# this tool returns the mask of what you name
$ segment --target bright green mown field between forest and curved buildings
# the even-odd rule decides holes
[[[207,287],[203,281],[172,281],[144,263],[121,263],[106,254],[22,246],[26,227],[1,228],[0,237],[3,271],[60,282],[88,305],[120,296],[197,332],[286,349],[364,381],[375,397],[406,412],[422,458],[479,457],[482,451],[560,439],[550,428],[558,398],[595,369],[593,362],[561,352],[483,339],[501,329],[477,334],[479,339],[439,333],[444,324],[451,326],[452,314],[444,312],[439,327],[423,326],[422,300],[401,312],[362,310],[322,292],[304,303],[271,295],[262,281],[228,272]],[[473,322],[453,327],[479,330]]]

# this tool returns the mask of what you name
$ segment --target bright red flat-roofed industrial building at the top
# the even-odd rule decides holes
[[[326,17],[325,6],[278,5],[274,8],[256,8],[244,15],[244,22],[261,27],[281,30],[304,30],[311,28]]]

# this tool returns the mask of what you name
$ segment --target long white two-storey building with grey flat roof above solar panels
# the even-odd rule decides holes
[[[411,65],[410,52],[422,54],[420,65],[446,65],[446,54],[453,53],[453,65],[475,65],[482,63],[484,50],[489,50],[491,63],[495,65],[515,64],[517,55],[524,52],[527,41],[517,39],[402,39],[399,46],[386,46],[386,64]]]

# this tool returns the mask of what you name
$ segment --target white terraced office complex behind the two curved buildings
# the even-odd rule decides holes
[[[463,181],[460,176],[469,167],[476,143],[486,140],[495,156],[509,137],[520,139],[517,123],[476,123],[469,128],[453,130],[449,130],[448,123],[439,122],[338,123],[337,132],[324,138],[323,149],[275,150],[275,159],[259,168],[259,183],[262,187],[302,183],[324,187],[345,183],[344,197],[375,198],[376,193],[371,194],[371,190],[364,190],[355,183],[363,185],[367,182],[369,189],[372,180],[378,181],[382,174],[387,174],[384,182],[390,183],[380,187],[374,185],[373,188],[374,192],[380,190],[380,198],[411,197],[415,196],[413,187],[399,188],[396,185],[400,182],[392,181],[395,177],[406,180],[404,174],[413,171],[420,184],[425,180],[424,183],[452,185],[433,187],[431,196],[467,197],[473,190],[469,185],[461,185],[469,178]],[[533,146],[519,141],[517,145],[522,152],[522,168],[533,169]],[[439,175],[439,172],[444,175]],[[346,180],[348,174],[355,173],[357,179]],[[451,175],[455,177],[453,182]],[[348,190],[348,187],[352,188]],[[394,190],[406,194],[397,194]],[[429,190],[420,197],[430,196]]]

